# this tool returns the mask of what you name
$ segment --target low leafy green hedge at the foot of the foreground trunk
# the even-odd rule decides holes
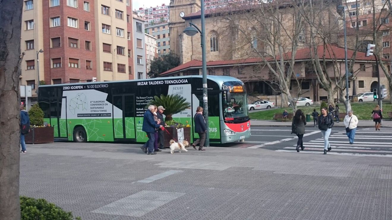
[[[21,220],[81,220],[43,198],[20,197]]]

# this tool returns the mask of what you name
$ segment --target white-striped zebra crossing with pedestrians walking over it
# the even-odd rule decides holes
[[[320,138],[310,140],[304,137],[303,146],[305,149],[300,153],[320,154],[324,150],[324,140]],[[327,152],[331,155],[352,155],[352,156],[375,156],[375,157],[392,157],[392,128],[381,128],[376,131],[375,128],[358,129],[355,134],[354,144],[350,144],[345,131],[334,132],[332,130],[329,136],[329,142],[332,150]],[[296,145],[285,147],[276,151],[297,153]]]

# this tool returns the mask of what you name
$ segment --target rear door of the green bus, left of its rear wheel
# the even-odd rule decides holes
[[[68,138],[67,111],[64,110],[65,118],[62,118],[61,110],[67,106],[67,98],[51,97],[50,99],[50,124],[54,128],[54,137]],[[65,103],[63,103],[63,101]],[[64,106],[62,106],[64,104]]]

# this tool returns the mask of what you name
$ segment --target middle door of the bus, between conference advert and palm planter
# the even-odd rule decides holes
[[[134,94],[113,95],[113,135],[114,140],[136,137]]]

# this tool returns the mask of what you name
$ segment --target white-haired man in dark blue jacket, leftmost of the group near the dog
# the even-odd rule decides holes
[[[155,155],[154,152],[154,141],[155,141],[155,131],[157,128],[162,128],[162,125],[159,125],[155,122],[154,116],[152,115],[152,111],[155,110],[154,105],[148,106],[148,110],[144,113],[143,116],[143,132],[147,133],[148,141],[141,146],[144,153],[147,153],[148,148],[148,155]]]

